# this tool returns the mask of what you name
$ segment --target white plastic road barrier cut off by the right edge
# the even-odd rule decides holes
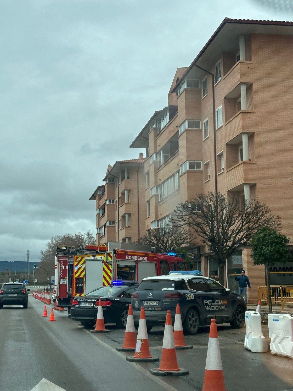
[[[293,315],[268,314],[272,354],[293,359]]]

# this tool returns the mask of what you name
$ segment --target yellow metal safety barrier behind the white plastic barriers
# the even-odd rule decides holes
[[[263,305],[268,305],[268,287],[257,287],[258,299]],[[272,305],[293,304],[293,286],[271,285]]]

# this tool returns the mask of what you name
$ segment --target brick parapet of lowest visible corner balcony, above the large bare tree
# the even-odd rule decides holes
[[[226,170],[229,176],[229,191],[238,191],[243,183],[250,185],[257,181],[257,167],[255,161],[241,161]]]

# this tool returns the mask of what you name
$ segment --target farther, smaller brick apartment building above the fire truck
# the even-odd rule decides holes
[[[116,161],[89,198],[96,201],[96,244],[136,242],[145,235],[145,158]]]

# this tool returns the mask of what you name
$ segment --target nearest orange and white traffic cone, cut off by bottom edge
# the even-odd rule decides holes
[[[226,391],[216,319],[212,319],[202,391]]]

